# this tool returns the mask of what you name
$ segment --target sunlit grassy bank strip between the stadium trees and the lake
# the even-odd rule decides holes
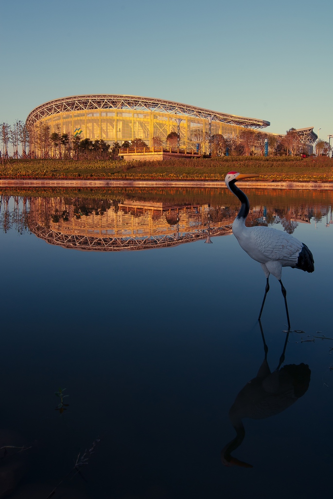
[[[223,180],[230,171],[256,173],[258,180],[333,182],[333,159],[222,157],[168,161],[12,160],[0,164],[2,179]]]

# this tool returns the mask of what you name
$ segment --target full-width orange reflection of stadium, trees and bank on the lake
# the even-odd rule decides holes
[[[21,224],[47,243],[76,250],[121,251],[176,246],[183,243],[231,234],[237,204],[225,190],[187,190],[186,202],[175,202],[185,190],[117,191],[105,193],[71,192],[66,196],[1,195],[2,228]],[[252,190],[253,191],[253,190]],[[262,200],[262,193],[265,194]],[[22,193],[23,194],[23,193]],[[75,194],[75,195],[74,195]],[[88,196],[87,196],[88,194]],[[308,194],[308,195],[307,195]],[[310,192],[294,192],[295,205],[286,206],[285,192],[253,191],[263,204],[253,203],[247,224],[280,223],[292,234],[299,223],[310,223],[316,216],[329,216],[332,195],[325,192],[328,204],[314,202]],[[148,198],[148,199],[147,199]],[[321,196],[322,199],[322,196]],[[291,200],[292,201],[292,200]],[[12,214],[10,215],[10,211]],[[330,215],[332,223],[332,213]],[[18,225],[17,225],[18,224]]]

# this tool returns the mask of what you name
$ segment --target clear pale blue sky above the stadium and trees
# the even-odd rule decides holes
[[[333,134],[330,0],[0,0],[0,122],[85,93]]]

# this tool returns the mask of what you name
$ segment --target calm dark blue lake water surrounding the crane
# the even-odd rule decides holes
[[[286,344],[226,189],[1,189],[0,498],[329,497],[333,191],[245,192],[248,225],[314,255],[283,269]],[[253,468],[226,467],[243,388],[230,452]]]

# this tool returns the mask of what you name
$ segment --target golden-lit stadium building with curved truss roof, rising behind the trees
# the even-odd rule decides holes
[[[208,150],[208,134],[236,137],[244,128],[265,128],[268,121],[210,111],[177,102],[128,95],[80,95],[56,99],[35,108],[27,118],[31,139],[40,124],[53,132],[80,138],[103,139],[107,143],[142,139],[148,146],[153,137],[163,143],[171,132],[180,134],[180,147],[201,142]],[[81,132],[82,131],[82,132]],[[32,149],[35,149],[31,144]]]

